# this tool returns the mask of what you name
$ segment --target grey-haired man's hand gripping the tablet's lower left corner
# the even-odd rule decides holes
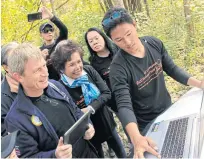
[[[72,158],[72,145],[64,145],[63,138],[60,137],[56,151],[56,158]]]

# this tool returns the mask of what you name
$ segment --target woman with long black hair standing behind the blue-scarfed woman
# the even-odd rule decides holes
[[[110,89],[110,64],[119,48],[98,28],[88,29],[85,41],[90,53],[90,65],[101,75]],[[117,107],[113,103],[110,107],[117,112]]]

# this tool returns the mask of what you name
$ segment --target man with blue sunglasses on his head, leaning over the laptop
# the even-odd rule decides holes
[[[159,39],[138,38],[136,23],[125,9],[110,9],[102,25],[105,33],[121,48],[111,64],[110,82],[120,121],[134,145],[134,157],[143,158],[145,151],[160,157],[153,141],[140,132],[171,105],[163,71],[185,85],[204,88],[204,81],[176,66]]]

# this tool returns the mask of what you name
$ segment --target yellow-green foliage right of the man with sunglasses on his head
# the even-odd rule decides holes
[[[191,18],[194,26],[192,37],[188,35],[182,0],[149,1],[150,16],[136,13],[139,35],[152,35],[161,39],[174,61],[182,67],[202,63],[204,49],[204,2],[192,0]],[[204,63],[202,63],[204,64]]]

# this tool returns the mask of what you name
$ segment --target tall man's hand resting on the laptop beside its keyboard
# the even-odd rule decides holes
[[[158,150],[158,148],[152,139],[140,135],[137,137],[134,143],[134,158],[144,158],[145,151],[155,155],[158,158],[161,158],[156,150]]]

